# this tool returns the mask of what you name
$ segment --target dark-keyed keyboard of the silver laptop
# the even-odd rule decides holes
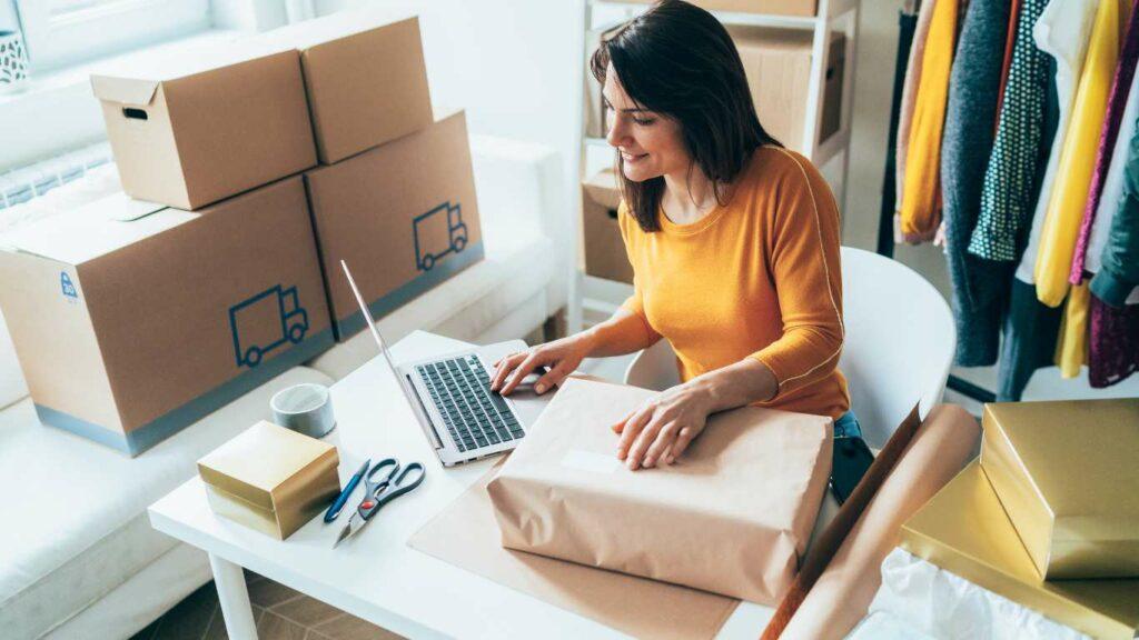
[[[525,435],[477,355],[416,366],[416,372],[446,424],[459,451],[518,440]]]

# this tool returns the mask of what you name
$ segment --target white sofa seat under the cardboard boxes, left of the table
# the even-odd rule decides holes
[[[169,551],[146,508],[196,473],[198,458],[260,419],[269,399],[300,383],[330,385],[297,367],[131,459],[44,427],[30,399],[0,411],[0,629],[38,638]]]

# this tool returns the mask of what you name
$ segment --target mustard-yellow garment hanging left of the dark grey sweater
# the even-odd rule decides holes
[[[902,236],[910,240],[933,239],[941,222],[941,132],[953,66],[957,10],[958,0],[937,0],[921,57],[899,212]]]

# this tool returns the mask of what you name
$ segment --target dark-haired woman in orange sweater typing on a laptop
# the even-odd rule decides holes
[[[544,393],[584,358],[664,337],[683,381],[614,425],[630,469],[671,465],[711,413],[747,404],[861,435],[836,369],[838,208],[818,170],[760,125],[728,32],[665,0],[604,39],[591,67],[618,150],[634,293],[605,322],[499,361],[491,388],[507,395],[547,366]]]

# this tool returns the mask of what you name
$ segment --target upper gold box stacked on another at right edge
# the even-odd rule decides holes
[[[1139,576],[1139,400],[986,404],[981,466],[1046,580]]]

